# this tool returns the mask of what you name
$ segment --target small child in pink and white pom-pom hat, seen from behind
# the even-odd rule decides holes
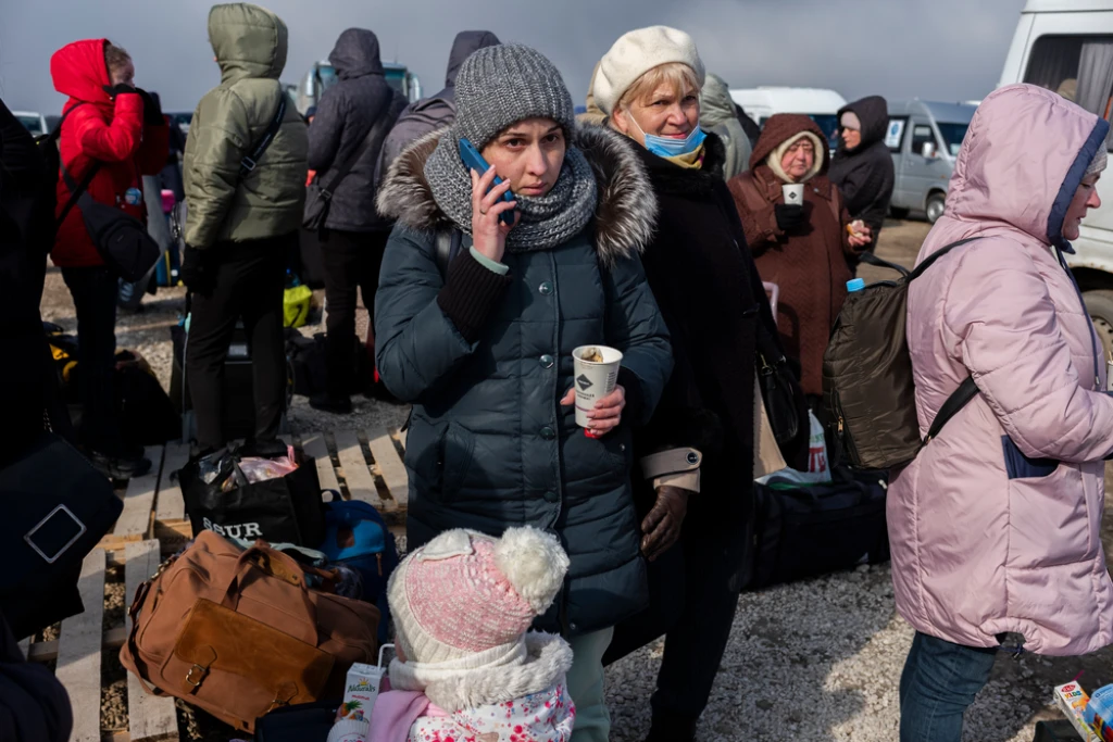
[[[568,565],[555,536],[532,527],[449,531],[407,556],[387,587],[398,659],[370,742],[568,742],[572,650],[528,633]]]

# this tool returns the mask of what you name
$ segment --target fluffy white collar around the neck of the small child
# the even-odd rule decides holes
[[[474,709],[539,693],[563,677],[572,666],[572,647],[560,636],[525,634],[521,664],[449,671],[415,662],[391,663],[391,687],[422,691],[444,710]]]

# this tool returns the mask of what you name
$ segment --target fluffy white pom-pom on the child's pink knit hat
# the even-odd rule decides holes
[[[508,528],[495,543],[494,563],[539,614],[556,597],[569,565],[556,536],[531,526]]]

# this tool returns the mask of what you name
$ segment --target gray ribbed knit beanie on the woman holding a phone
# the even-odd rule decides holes
[[[556,67],[520,43],[476,50],[456,76],[455,129],[475,149],[483,149],[510,125],[530,118],[552,119],[568,137],[574,110]]]

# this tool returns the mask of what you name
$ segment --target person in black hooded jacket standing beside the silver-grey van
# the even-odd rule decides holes
[[[889,126],[888,103],[869,96],[844,106],[838,112],[839,142],[827,177],[838,186],[850,218],[861,219],[877,236],[893,198],[893,155],[885,146]]]

